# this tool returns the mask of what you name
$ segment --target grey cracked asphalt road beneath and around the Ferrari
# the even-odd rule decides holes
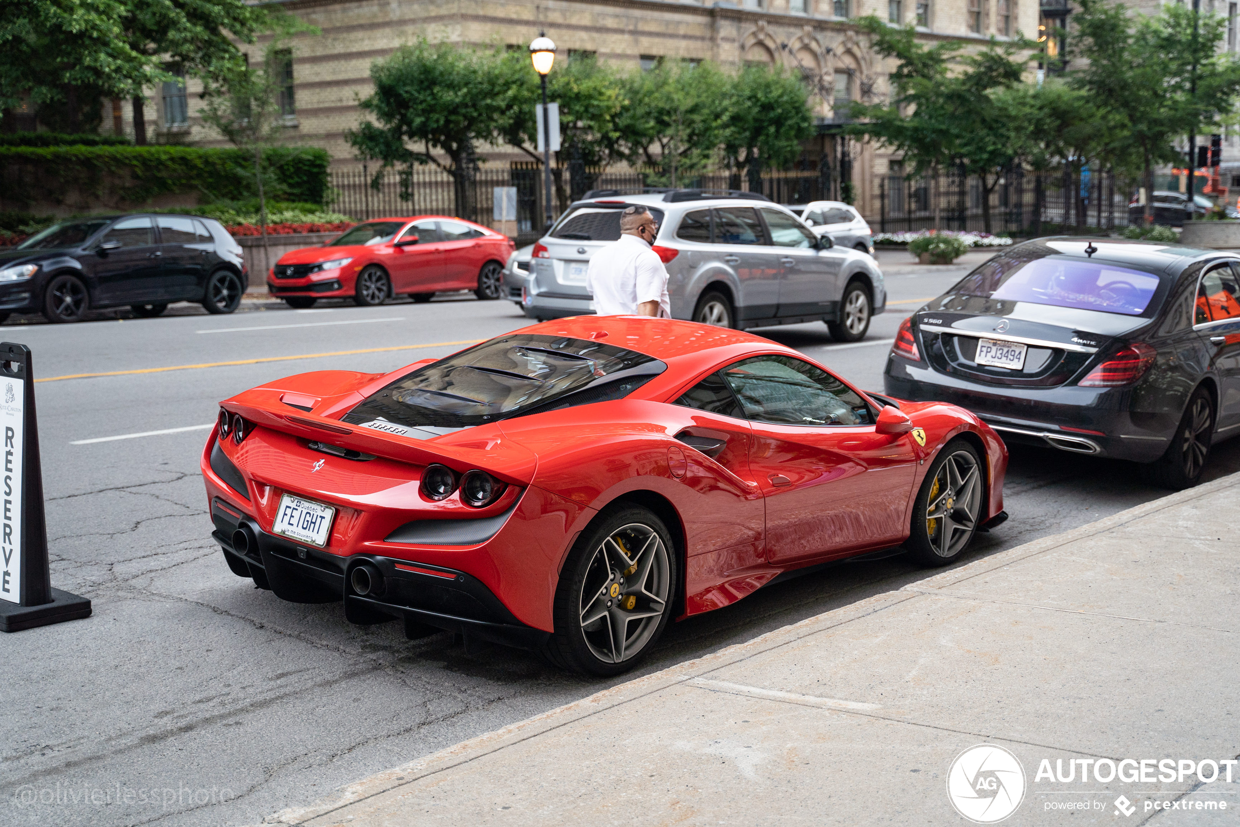
[[[864,342],[835,345],[821,324],[758,332],[880,389],[900,320],[965,272],[901,264],[884,264],[892,304]],[[46,379],[37,404],[53,583],[94,601],[89,620],[2,641],[5,823],[255,823],[609,683],[498,646],[466,655],[449,635],[410,643],[396,624],[351,626],[337,604],[281,603],[231,574],[210,539],[197,469],[219,399],[303,371],[386,371],[443,356],[523,326],[513,305],[461,295],[124,315],[69,326],[12,319],[0,330],[33,350]],[[105,439],[174,429],[182,430]],[[1216,449],[1208,475],[1235,470],[1240,440]],[[966,559],[1164,493],[1133,471],[1014,449],[1012,520]],[[813,570],[675,624],[641,672],[924,575],[899,554]]]

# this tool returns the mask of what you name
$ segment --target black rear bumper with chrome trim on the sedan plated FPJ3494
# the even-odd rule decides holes
[[[1008,444],[1153,462],[1179,424],[1180,410],[1130,409],[1130,388],[992,388],[888,356],[884,391],[918,402],[950,402],[973,412]]]

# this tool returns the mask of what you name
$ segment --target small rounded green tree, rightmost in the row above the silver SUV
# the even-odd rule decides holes
[[[733,188],[740,188],[740,170],[753,182],[763,166],[791,164],[813,134],[808,89],[782,68],[746,66],[728,83],[724,100],[723,156],[735,170]]]

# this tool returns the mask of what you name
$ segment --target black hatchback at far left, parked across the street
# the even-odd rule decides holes
[[[123,305],[157,316],[172,301],[232,312],[247,286],[241,245],[211,218],[74,218],[0,248],[0,322],[12,312],[79,321]]]

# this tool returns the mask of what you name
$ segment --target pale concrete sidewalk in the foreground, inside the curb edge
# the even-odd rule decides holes
[[[1008,825],[1238,825],[1238,510],[1240,474],[620,684],[267,821],[962,825],[949,769],[986,743],[1023,766]],[[1104,781],[1107,759],[1118,777]],[[1159,780],[1161,759],[1173,780]],[[1221,769],[1207,782],[1195,771],[1209,779],[1211,761]],[[996,796],[992,816],[1002,795],[1016,797],[1014,776],[968,759],[961,767],[957,781],[1002,787],[980,794]],[[1148,767],[1145,781],[1133,767]]]

